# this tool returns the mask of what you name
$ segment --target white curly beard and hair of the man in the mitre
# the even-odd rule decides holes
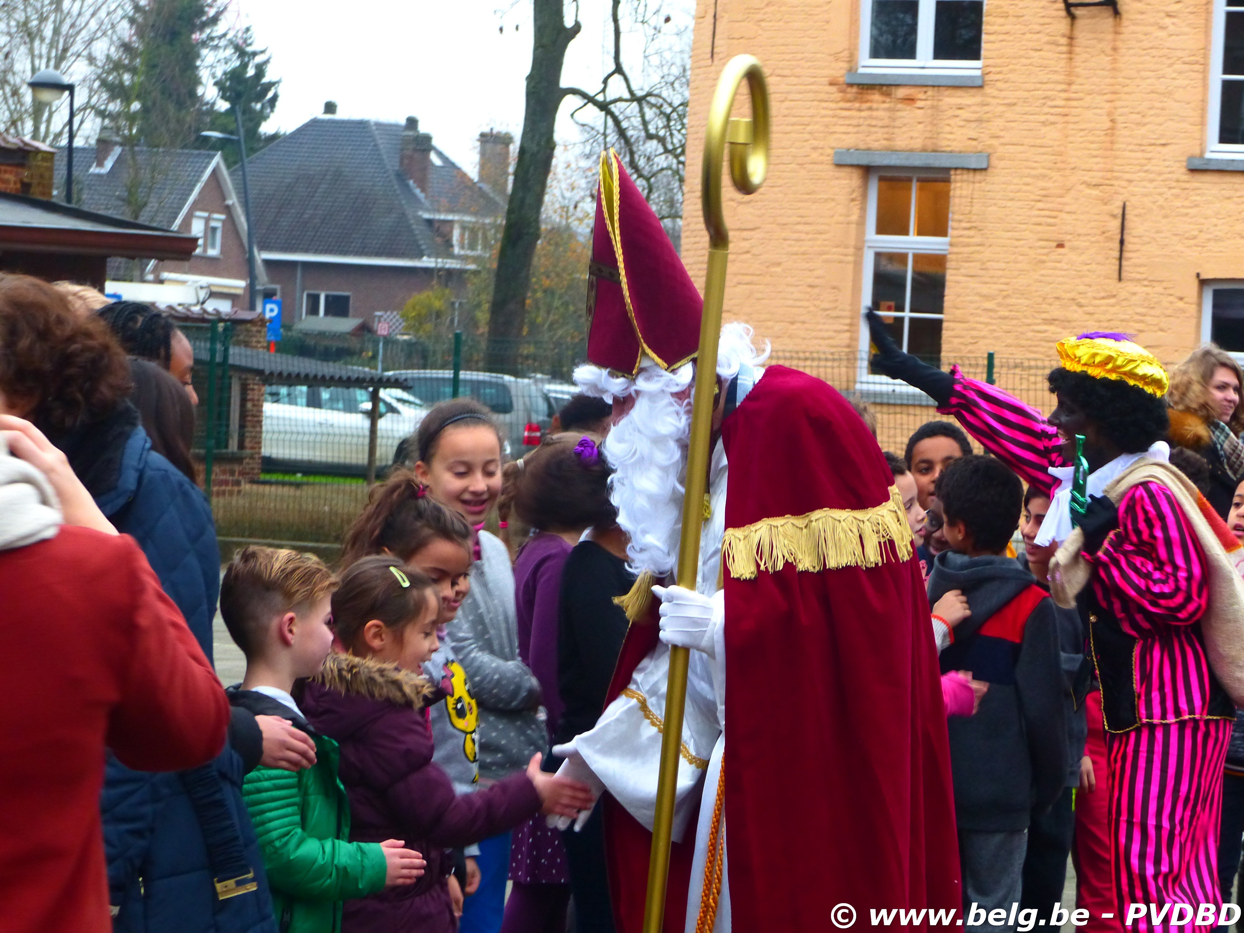
[[[768,347],[760,353],[751,345],[750,327],[728,323],[718,343],[718,376],[733,379],[741,366],[758,366],[768,355]],[[588,364],[575,369],[575,383],[607,402],[634,397],[634,407],[613,425],[602,449],[615,470],[610,499],[617,506],[618,525],[631,536],[629,569],[659,578],[672,573],[678,561],[692,402],[689,394],[675,396],[690,386],[694,367],[688,363],[666,372],[644,360],[633,381]]]

